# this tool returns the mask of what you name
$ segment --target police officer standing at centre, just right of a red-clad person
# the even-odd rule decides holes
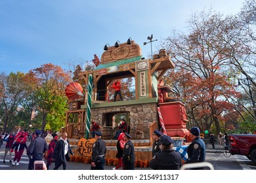
[[[131,136],[125,132],[125,148],[123,149],[123,170],[134,170],[135,151]]]

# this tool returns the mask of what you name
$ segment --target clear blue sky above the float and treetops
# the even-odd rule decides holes
[[[150,56],[147,37],[157,46],[173,29],[184,30],[196,11],[210,7],[236,14],[242,0],[85,1],[0,0],[0,73],[28,73],[44,63],[63,69],[100,58],[106,43],[129,37]]]

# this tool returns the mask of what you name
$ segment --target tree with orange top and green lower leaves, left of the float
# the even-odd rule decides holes
[[[43,64],[29,71],[26,76],[26,82],[30,84],[30,90],[34,96],[36,110],[42,116],[41,129],[43,131],[45,131],[47,120],[52,119],[53,116],[58,120],[65,119],[64,108],[56,108],[56,105],[62,105],[66,101],[65,88],[70,81],[69,73],[52,63]]]

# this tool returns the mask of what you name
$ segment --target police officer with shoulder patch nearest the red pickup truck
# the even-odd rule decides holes
[[[188,146],[188,160],[186,163],[205,161],[205,144],[199,135],[200,129],[198,127],[192,127],[190,130],[190,137],[193,141]]]

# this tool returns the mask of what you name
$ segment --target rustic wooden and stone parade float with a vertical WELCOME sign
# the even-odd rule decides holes
[[[135,167],[148,167],[152,159],[152,132],[160,129],[175,141],[177,151],[189,135],[186,129],[186,110],[182,101],[172,99],[171,87],[163,84],[161,76],[174,69],[166,50],[160,50],[152,59],[142,58],[140,46],[127,42],[105,46],[101,63],[95,69],[79,73],[85,80],[84,89],[77,82],[69,84],[66,95],[70,109],[66,111],[66,126],[75,155],[71,161],[91,163],[95,139],[91,137],[91,122],[100,124],[102,139],[107,145],[106,164],[116,165],[115,116],[126,114],[129,134],[135,146]],[[110,101],[108,88],[113,80],[133,77],[135,97],[123,101]],[[184,157],[185,155],[182,154]]]

